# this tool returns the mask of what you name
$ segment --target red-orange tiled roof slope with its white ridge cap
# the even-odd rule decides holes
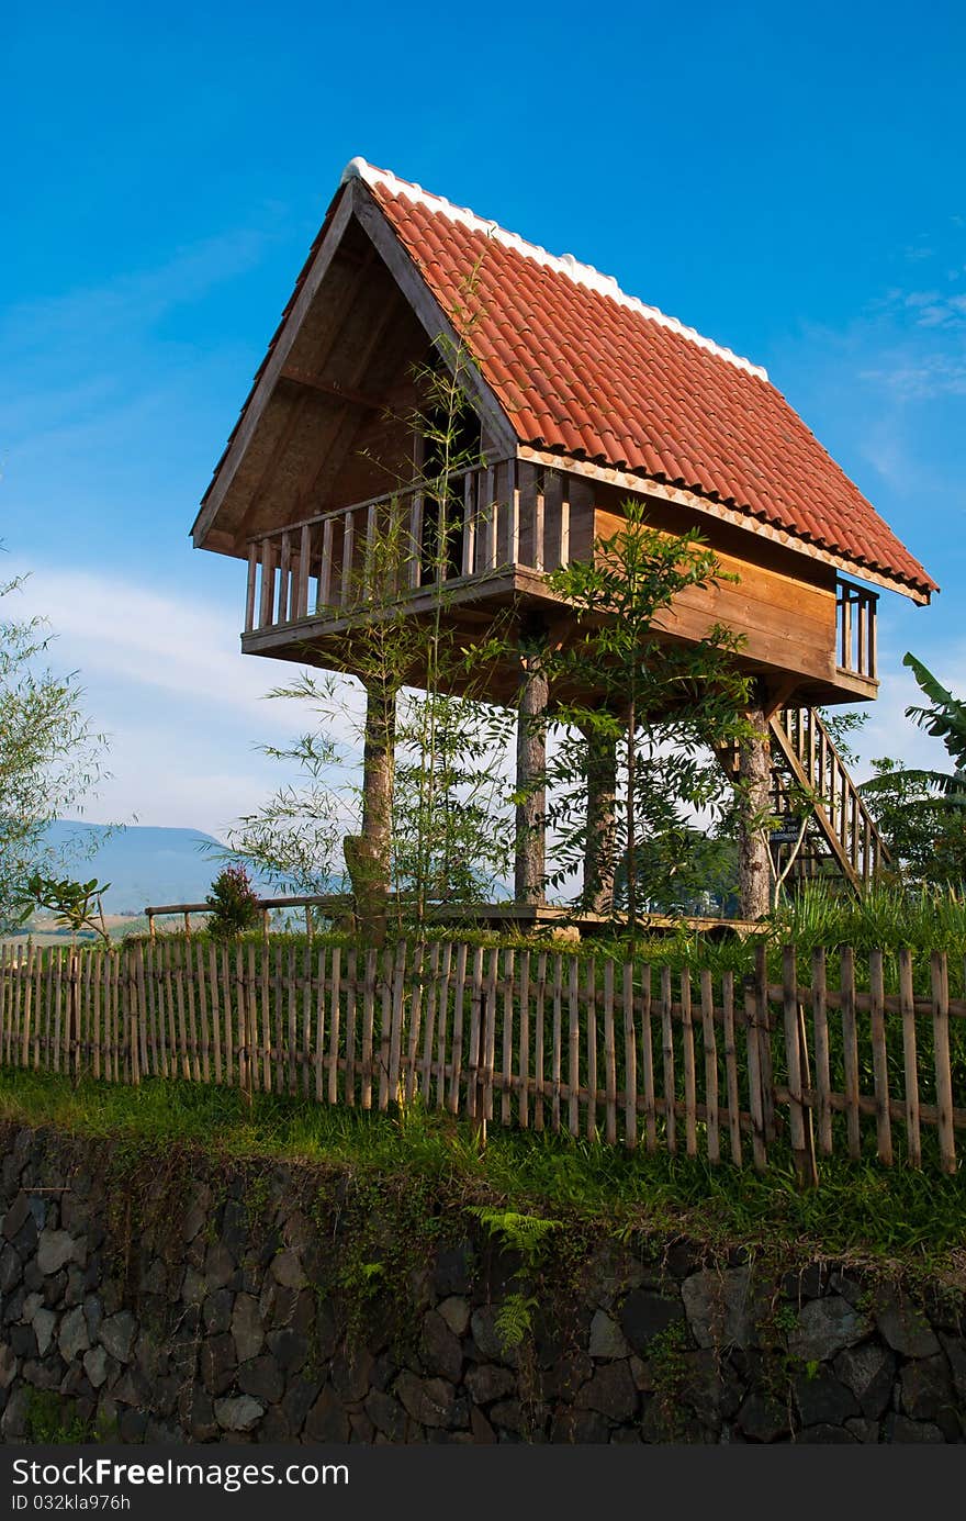
[[[683,487],[919,593],[919,561],[764,370],[418,186],[353,160],[444,312],[478,265],[473,357],[517,438]],[[479,262],[479,263],[478,263]]]

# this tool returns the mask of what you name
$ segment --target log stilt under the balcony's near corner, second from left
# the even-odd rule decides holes
[[[543,903],[546,864],[546,707],[549,683],[540,637],[520,642],[517,709],[517,803],[514,893],[517,903]]]

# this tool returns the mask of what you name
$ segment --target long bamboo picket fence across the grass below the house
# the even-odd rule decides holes
[[[6,946],[0,1060],[364,1110],[418,1095],[478,1124],[759,1170],[786,1138],[805,1177],[843,1150],[955,1171],[966,998],[946,955],[846,948],[815,951],[808,983],[800,967],[788,946],[770,983],[764,945],[744,978],[441,941]]]

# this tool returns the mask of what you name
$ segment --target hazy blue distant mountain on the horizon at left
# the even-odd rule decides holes
[[[131,824],[114,830],[70,818],[50,826],[47,843],[64,858],[65,875],[111,884],[103,894],[106,914],[140,913],[148,903],[202,903],[221,870],[218,852],[224,849],[198,829]],[[97,847],[93,855],[88,844]],[[256,888],[268,890],[259,882]]]

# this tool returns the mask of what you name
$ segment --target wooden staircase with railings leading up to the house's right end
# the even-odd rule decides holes
[[[785,707],[771,716],[770,729],[776,832],[797,838],[803,809],[806,815],[790,879],[838,878],[855,893],[866,891],[888,865],[888,850],[820,715],[814,707]],[[721,764],[729,776],[736,774],[736,753],[721,754]],[[803,805],[803,795],[811,803]],[[786,861],[782,846],[774,849]],[[777,868],[782,865],[779,859]]]

